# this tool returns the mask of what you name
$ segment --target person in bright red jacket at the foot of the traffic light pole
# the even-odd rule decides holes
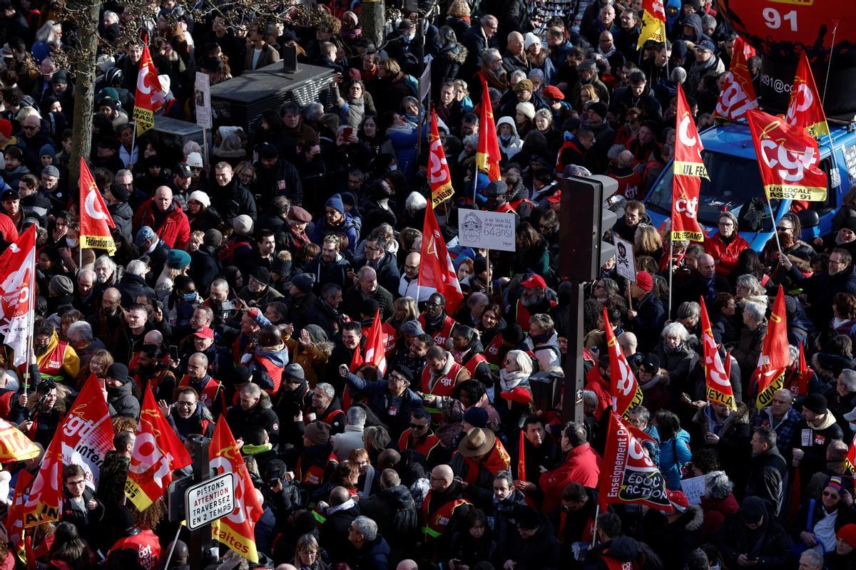
[[[568,424],[565,427],[562,431],[562,452],[568,454],[562,465],[545,472],[538,479],[538,487],[544,493],[544,513],[553,512],[562,503],[562,491],[568,483],[576,482],[584,487],[597,488],[600,455],[591,449],[584,426]]]

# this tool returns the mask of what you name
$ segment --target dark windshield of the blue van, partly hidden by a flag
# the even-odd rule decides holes
[[[698,221],[704,226],[716,228],[719,214],[728,210],[740,215],[740,207],[753,197],[764,197],[758,163],[739,156],[723,155],[704,151],[704,166],[710,180],[701,180],[698,197]],[[776,200],[773,208],[776,208]],[[645,199],[645,208],[659,214],[671,215],[672,211],[672,167],[667,165],[663,178],[651,189]],[[764,228],[772,230],[770,213],[764,209]],[[770,226],[769,228],[767,226]]]

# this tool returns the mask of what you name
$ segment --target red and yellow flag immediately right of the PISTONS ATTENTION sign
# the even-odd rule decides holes
[[[262,506],[259,497],[256,497],[253,480],[250,479],[235,437],[226,423],[225,414],[217,420],[209,449],[211,469],[217,475],[233,473],[232,484],[235,485],[235,510],[211,525],[212,536],[247,560],[258,562],[259,551],[256,549],[253,528],[262,515]]]

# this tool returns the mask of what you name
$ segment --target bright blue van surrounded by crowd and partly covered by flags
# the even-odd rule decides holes
[[[830,124],[829,128],[831,141],[830,137],[822,137],[819,141],[820,168],[827,173],[829,180],[826,202],[811,202],[811,209],[799,214],[802,238],[809,244],[812,239],[832,231],[832,218],[841,207],[841,198],[856,185],[856,126]],[[739,217],[743,204],[753,197],[764,199],[764,188],[748,125],[729,123],[712,126],[700,136],[704,144],[704,165],[710,180],[701,181],[698,221],[704,226],[704,232],[710,234],[716,232],[720,212],[728,210]],[[790,208],[790,200],[773,200],[776,222]],[[669,220],[671,209],[672,167],[669,163],[645,197],[645,212],[651,216],[654,226],[660,227]],[[740,232],[740,235],[753,250],[760,252],[773,236],[775,227],[768,208],[764,209],[760,232]]]

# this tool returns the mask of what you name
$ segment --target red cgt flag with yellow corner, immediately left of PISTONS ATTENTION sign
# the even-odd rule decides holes
[[[190,454],[163,417],[152,388],[146,386],[125,496],[138,510],[144,511],[163,496],[172,481],[172,472],[188,465]]]

